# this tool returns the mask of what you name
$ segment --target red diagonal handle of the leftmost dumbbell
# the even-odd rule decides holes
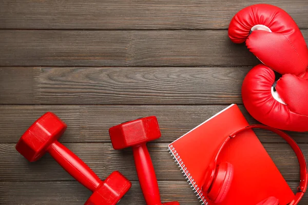
[[[49,154],[72,177],[83,186],[94,192],[102,183],[101,179],[78,156],[62,145],[59,141],[53,142],[48,148]]]

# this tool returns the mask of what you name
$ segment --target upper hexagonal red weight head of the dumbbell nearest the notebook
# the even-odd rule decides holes
[[[156,116],[144,117],[109,129],[113,149],[120,150],[160,138]]]

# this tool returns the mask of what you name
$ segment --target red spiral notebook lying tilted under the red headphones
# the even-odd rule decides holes
[[[248,122],[238,106],[231,105],[168,146],[171,156],[203,203],[214,204],[202,192],[201,181],[215,151],[226,136],[246,126]],[[270,196],[278,198],[280,204],[287,204],[294,198],[291,188],[252,130],[243,131],[230,140],[219,161],[228,161],[234,166],[230,191],[219,205],[256,205]]]

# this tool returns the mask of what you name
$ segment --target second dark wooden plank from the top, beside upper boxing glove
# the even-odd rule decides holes
[[[302,30],[308,42],[308,30]],[[215,31],[0,30],[0,66],[252,66],[244,44]]]

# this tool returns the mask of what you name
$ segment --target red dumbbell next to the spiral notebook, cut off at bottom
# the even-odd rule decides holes
[[[109,129],[112,146],[115,150],[132,147],[140,186],[148,205],[178,205],[178,201],[162,203],[155,170],[146,142],[160,138],[161,132],[155,116],[144,117]]]

